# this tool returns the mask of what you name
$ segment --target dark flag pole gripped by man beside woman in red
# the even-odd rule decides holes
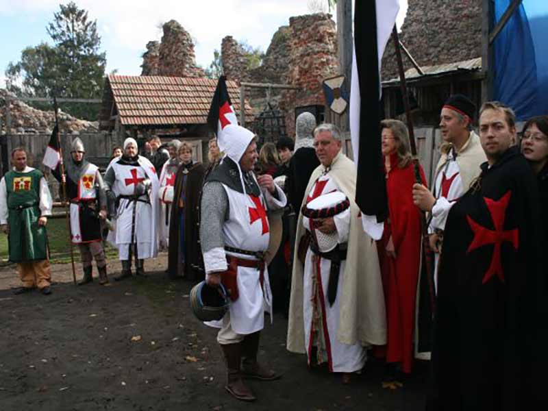
[[[411,154],[413,156],[413,168],[414,168],[414,174],[415,174],[415,181],[418,184],[422,184],[422,178],[421,178],[421,168],[419,164],[419,158],[417,157],[416,153],[416,143],[415,143],[415,134],[414,134],[414,127],[413,127],[413,118],[411,116],[411,107],[409,105],[409,95],[407,90],[407,84],[406,84],[406,74],[403,71],[403,60],[401,60],[401,43],[399,42],[399,36],[396,25],[394,25],[394,28],[392,29],[392,39],[394,41],[394,49],[396,51],[396,60],[398,64],[398,71],[399,71],[399,85],[401,89],[401,99],[403,99],[403,107],[406,109],[406,119],[407,119],[407,127],[409,130],[409,142],[410,142],[410,149]],[[423,236],[423,264],[425,264],[426,267],[426,273],[428,277],[428,286],[430,290],[430,304],[432,307],[432,312],[434,312],[434,309],[436,307],[436,300],[435,300],[435,292],[434,292],[434,276],[432,275],[432,266],[425,261],[428,253],[430,253],[430,244],[428,241],[428,226],[426,224],[426,215],[425,212],[421,211],[421,229],[422,229],[422,236]]]

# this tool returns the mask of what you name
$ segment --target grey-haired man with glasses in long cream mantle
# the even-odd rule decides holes
[[[386,343],[386,314],[375,243],[364,233],[354,201],[356,167],[340,146],[334,125],[316,127],[321,164],[310,177],[297,223],[295,255],[301,257],[293,264],[287,348],[307,353],[311,366],[327,362],[346,383],[364,366],[366,347]],[[311,201],[332,192],[347,197],[346,210],[327,218],[303,216]],[[322,233],[336,233],[334,250],[319,250]]]

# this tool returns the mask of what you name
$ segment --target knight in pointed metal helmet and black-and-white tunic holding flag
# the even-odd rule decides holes
[[[66,196],[70,201],[71,241],[77,245],[82,258],[84,278],[78,284],[92,282],[92,260],[99,271],[99,284],[108,283],[107,262],[101,236],[101,220],[107,216],[105,184],[99,167],[85,158],[84,143],[78,137],[71,145],[71,158],[66,162],[66,175],[60,167],[52,170],[53,177],[66,182]]]

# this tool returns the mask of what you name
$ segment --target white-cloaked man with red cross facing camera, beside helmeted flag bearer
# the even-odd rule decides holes
[[[122,273],[114,279],[131,277],[132,255],[136,274],[143,275],[143,260],[158,254],[158,175],[152,163],[138,155],[137,142],[126,138],[123,155],[110,162],[104,181],[118,204],[114,243],[119,250]],[[108,192],[107,195],[110,196]]]

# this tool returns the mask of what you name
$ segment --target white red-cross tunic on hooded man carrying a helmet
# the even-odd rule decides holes
[[[266,210],[283,208],[286,204],[284,192],[276,186],[278,199],[275,199],[269,192],[265,192],[260,197],[253,197],[232,190],[224,184],[223,188],[229,203],[229,218],[223,224],[225,246],[247,251],[266,251],[270,239]],[[215,247],[203,254],[206,273],[225,271],[226,255],[256,260],[252,256],[231,253],[221,247]],[[236,334],[245,335],[260,331],[264,327],[264,311],[272,314],[272,294],[266,266],[263,279],[261,286],[258,269],[238,266],[239,297],[229,309],[230,324]],[[212,327],[221,327],[223,321],[212,321],[207,324]]]

